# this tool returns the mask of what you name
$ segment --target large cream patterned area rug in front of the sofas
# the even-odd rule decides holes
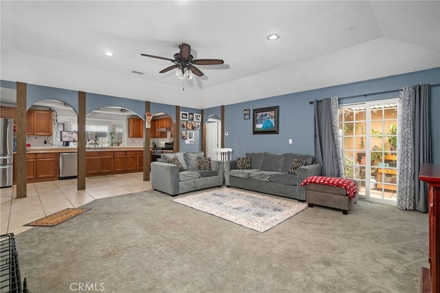
[[[172,200],[258,232],[265,232],[307,208],[307,204],[230,188]]]

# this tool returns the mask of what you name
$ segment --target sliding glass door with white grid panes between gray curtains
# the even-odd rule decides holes
[[[395,205],[397,99],[341,106],[339,121],[346,177],[360,197]]]

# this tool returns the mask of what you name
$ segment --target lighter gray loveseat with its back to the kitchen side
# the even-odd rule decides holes
[[[184,167],[168,163],[174,156]],[[151,186],[154,190],[179,195],[199,189],[223,185],[223,162],[210,161],[209,170],[197,170],[197,157],[204,158],[203,151],[188,153],[163,153],[157,162],[151,162]]]

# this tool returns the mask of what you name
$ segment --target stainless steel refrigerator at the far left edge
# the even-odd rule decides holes
[[[14,119],[0,118],[0,187],[12,186]]]

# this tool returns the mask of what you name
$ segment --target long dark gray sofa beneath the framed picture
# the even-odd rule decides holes
[[[237,160],[225,162],[226,186],[289,197],[305,202],[306,189],[305,186],[300,186],[301,182],[309,176],[322,175],[322,166],[314,164],[314,156],[312,155],[296,153],[283,155],[246,153],[245,155],[246,158],[250,158],[249,169],[237,169]],[[240,162],[242,159],[238,160]],[[294,160],[296,160],[295,162],[300,160],[306,164],[296,169],[297,174],[291,174]]]

